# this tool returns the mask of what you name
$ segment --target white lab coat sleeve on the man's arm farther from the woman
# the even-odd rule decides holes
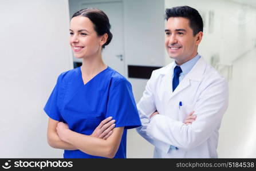
[[[215,79],[203,89],[195,103],[196,120],[191,125],[183,124],[164,115],[156,115],[147,125],[147,136],[190,150],[204,143],[211,134],[219,129],[228,106],[227,82]]]

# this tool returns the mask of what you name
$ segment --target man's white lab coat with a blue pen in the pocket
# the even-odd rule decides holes
[[[155,158],[216,158],[218,130],[228,106],[227,82],[201,57],[172,92],[173,65],[152,72],[137,103],[142,123],[137,132],[155,146]],[[149,120],[156,110],[159,115]],[[196,120],[183,124],[192,111]]]

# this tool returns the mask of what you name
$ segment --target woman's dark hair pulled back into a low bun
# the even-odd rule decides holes
[[[112,33],[110,32],[111,25],[109,23],[108,16],[103,11],[93,8],[82,9],[74,13],[72,18],[80,15],[90,19],[98,36],[102,36],[105,33],[108,34],[107,42],[103,44],[103,48],[111,42],[113,37]]]

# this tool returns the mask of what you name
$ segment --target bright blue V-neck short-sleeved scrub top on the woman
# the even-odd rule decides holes
[[[82,80],[81,67],[62,73],[44,111],[50,118],[62,121],[70,130],[84,135],[91,135],[102,120],[112,116],[116,127],[124,127],[114,158],[126,158],[127,129],[141,125],[131,84],[110,67],[86,84]],[[80,150],[64,150],[64,158],[104,157],[91,156]]]

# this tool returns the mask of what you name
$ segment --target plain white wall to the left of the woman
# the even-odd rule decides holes
[[[62,157],[47,143],[43,108],[73,66],[68,1],[1,0],[0,11],[0,158]]]

